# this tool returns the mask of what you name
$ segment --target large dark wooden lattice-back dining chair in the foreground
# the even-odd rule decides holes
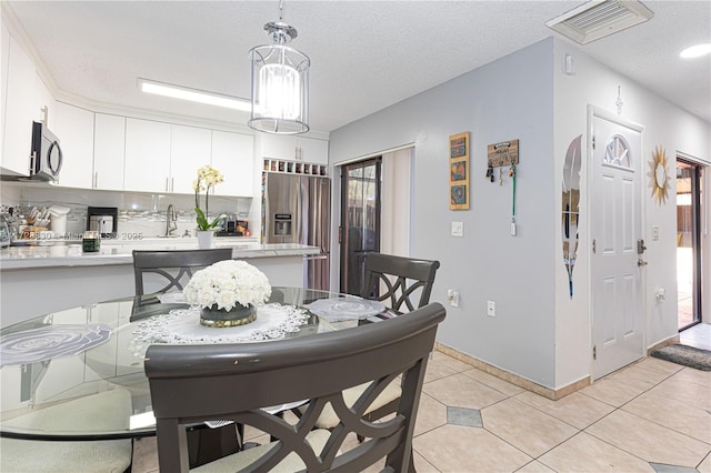
[[[144,370],[157,422],[161,471],[187,472],[186,427],[230,420],[276,441],[204,465],[210,471],[363,471],[384,459],[384,470],[411,465],[412,436],[424,370],[444,308],[432,303],[408,316],[318,335],[243,344],[163,345],[148,349]],[[402,394],[393,419],[362,420],[363,412],[398,376]],[[343,391],[368,388],[352,405]],[[263,407],[308,400],[298,421]],[[330,407],[331,430],[313,430]],[[344,437],[364,442],[349,451]]]

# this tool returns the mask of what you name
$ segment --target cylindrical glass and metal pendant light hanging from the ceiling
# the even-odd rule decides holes
[[[277,134],[309,131],[309,67],[302,52],[287,46],[296,28],[283,22],[284,0],[279,1],[279,21],[264,24],[272,44],[250,50],[252,61],[252,114],[249,127]]]

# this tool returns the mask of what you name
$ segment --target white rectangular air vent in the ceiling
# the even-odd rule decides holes
[[[547,27],[587,44],[652,18],[654,13],[639,1],[593,0],[545,23]]]

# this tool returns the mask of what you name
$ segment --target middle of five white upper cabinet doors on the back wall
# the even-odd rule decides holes
[[[124,190],[169,192],[170,134],[170,123],[126,119]]]

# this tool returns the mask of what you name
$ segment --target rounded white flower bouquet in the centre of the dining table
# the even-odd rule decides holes
[[[230,311],[237,304],[247,308],[267,301],[271,285],[264,273],[251,264],[224,260],[197,271],[182,293],[189,304]]]

